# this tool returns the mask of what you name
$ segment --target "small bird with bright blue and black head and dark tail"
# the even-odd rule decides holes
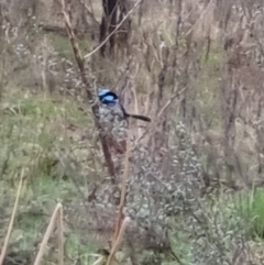
[[[148,118],[148,117],[128,113],[125,111],[125,109],[123,108],[123,106],[119,102],[119,98],[118,98],[117,93],[114,93],[113,91],[111,91],[107,88],[101,89],[99,91],[98,97],[102,104],[109,107],[109,109],[114,111],[122,119],[134,118],[134,119],[139,119],[142,121],[151,122],[151,118]]]

